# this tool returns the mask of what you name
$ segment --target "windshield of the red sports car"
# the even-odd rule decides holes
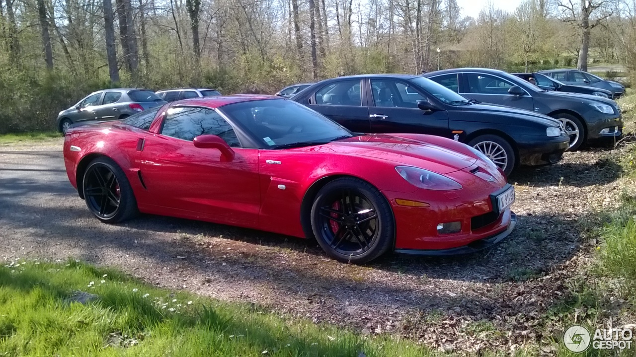
[[[219,109],[268,149],[325,144],[355,136],[338,123],[291,100],[252,100]]]

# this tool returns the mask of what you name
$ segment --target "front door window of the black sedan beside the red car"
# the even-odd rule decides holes
[[[371,79],[376,107],[417,108],[417,102],[427,100],[414,88],[387,79]]]

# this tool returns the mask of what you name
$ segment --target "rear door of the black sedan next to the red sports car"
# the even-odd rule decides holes
[[[309,107],[357,133],[370,130],[369,111],[360,79],[330,82],[317,90]]]

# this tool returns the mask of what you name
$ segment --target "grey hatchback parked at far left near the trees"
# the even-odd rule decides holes
[[[57,115],[56,128],[66,133],[76,123],[120,120],[166,102],[155,92],[139,88],[116,88],[90,93],[78,104]]]

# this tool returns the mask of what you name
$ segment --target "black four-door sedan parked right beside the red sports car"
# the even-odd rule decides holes
[[[424,133],[465,142],[506,175],[520,165],[556,163],[568,147],[568,137],[555,119],[476,104],[422,76],[338,77],[291,99],[360,133]]]

